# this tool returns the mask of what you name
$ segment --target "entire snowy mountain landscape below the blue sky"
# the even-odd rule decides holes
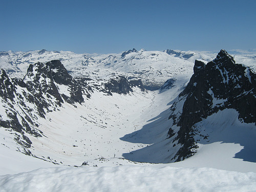
[[[256,51],[0,52],[0,191],[256,191]]]

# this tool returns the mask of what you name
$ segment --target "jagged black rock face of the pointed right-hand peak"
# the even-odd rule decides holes
[[[176,137],[169,129],[169,138],[182,145],[173,159],[181,161],[195,152],[193,125],[224,109],[235,109],[239,118],[246,123],[256,122],[256,74],[248,67],[236,64],[234,59],[221,50],[216,59],[205,65],[196,60],[194,75],[187,87],[172,105],[173,126],[180,127]],[[184,102],[182,111],[178,105]]]

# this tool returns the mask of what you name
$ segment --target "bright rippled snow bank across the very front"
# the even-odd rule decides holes
[[[256,173],[146,166],[40,168],[0,176],[1,191],[253,191]]]

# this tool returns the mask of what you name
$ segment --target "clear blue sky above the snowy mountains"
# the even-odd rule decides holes
[[[0,51],[256,48],[256,1],[5,0]]]

